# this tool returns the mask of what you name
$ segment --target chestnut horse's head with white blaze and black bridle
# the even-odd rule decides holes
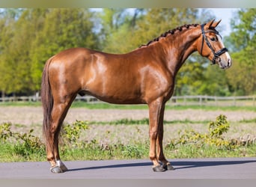
[[[201,25],[202,37],[198,40],[198,52],[207,57],[213,64],[219,64],[220,68],[227,69],[231,67],[231,56],[222,42],[222,37],[216,31],[219,22],[215,22],[215,19],[213,19],[207,24]]]

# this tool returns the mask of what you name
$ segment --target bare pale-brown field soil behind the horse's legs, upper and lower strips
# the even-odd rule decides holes
[[[166,110],[165,120],[192,120],[198,123],[174,123],[166,124],[165,142],[171,138],[177,138],[178,132],[183,129],[195,129],[199,132],[206,132],[207,125],[200,123],[204,120],[215,120],[219,114],[225,114],[231,123],[229,137],[238,138],[246,135],[256,135],[255,123],[239,123],[240,120],[251,120],[256,117],[254,111],[204,111],[201,109]],[[76,120],[90,121],[111,121],[123,118],[141,120],[148,117],[147,110],[127,109],[87,109],[70,108],[64,123],[73,123]],[[43,110],[41,107],[0,107],[0,124],[11,122],[13,130],[28,132],[34,129],[37,136],[41,136],[43,121]],[[90,125],[90,128],[82,135],[84,141],[96,140],[100,144],[127,144],[129,141],[148,141],[147,125]],[[131,138],[132,137],[132,138]]]

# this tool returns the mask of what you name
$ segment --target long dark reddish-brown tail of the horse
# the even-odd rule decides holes
[[[43,75],[42,75],[42,83],[41,83],[41,102],[43,105],[43,136],[46,141],[46,147],[48,147],[47,144],[49,144],[49,125],[51,123],[52,117],[52,107],[53,107],[53,96],[52,96],[52,90],[51,85],[49,84],[49,75],[48,75],[48,69],[49,64],[52,61],[52,58],[49,58],[48,61],[46,61],[46,64],[43,68]]]

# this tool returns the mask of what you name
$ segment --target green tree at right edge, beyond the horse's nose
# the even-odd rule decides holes
[[[241,9],[231,22],[228,43],[233,44],[232,71],[227,72],[231,89],[238,95],[256,91],[256,9]]]

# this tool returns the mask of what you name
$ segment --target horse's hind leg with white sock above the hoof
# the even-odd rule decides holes
[[[52,108],[52,122],[50,124],[50,128],[48,129],[48,138],[46,140],[47,160],[51,165],[50,171],[52,171],[52,173],[63,173],[64,171],[67,171],[67,167],[63,164],[63,162],[61,162],[59,155],[58,135],[67,111],[75,97],[76,95],[69,97],[65,96],[64,102],[61,102],[60,99],[55,99]]]

